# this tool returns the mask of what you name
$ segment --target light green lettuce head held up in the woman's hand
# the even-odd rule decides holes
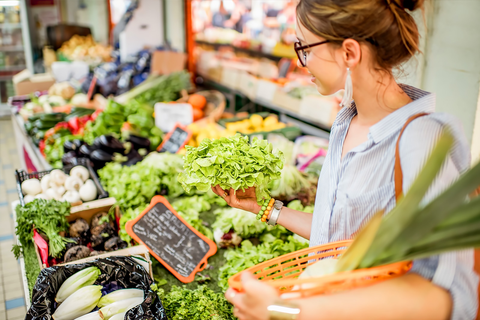
[[[186,146],[183,160],[186,173],[180,173],[178,180],[189,193],[193,186],[208,191],[211,185],[220,185],[229,190],[245,190],[255,186],[257,201],[267,198],[271,179],[280,177],[283,168],[281,151],[272,153],[272,145],[266,140],[240,134],[220,139],[204,139],[197,148]]]

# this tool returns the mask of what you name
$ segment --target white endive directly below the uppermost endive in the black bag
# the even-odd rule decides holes
[[[75,320],[92,311],[102,297],[101,285],[87,285],[75,291],[57,307],[54,320]]]

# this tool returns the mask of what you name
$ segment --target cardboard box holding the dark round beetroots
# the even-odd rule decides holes
[[[102,212],[102,211],[108,212],[108,210],[115,204],[115,202],[116,200],[114,197],[108,197],[104,199],[84,202],[83,204],[72,207],[70,209],[70,215],[67,217],[67,220],[68,222],[73,222],[79,218],[82,218],[82,219],[85,219],[85,221],[88,224],[90,224],[93,216],[96,213]],[[38,252],[38,247],[36,246],[35,242],[34,242],[34,246],[35,246],[36,256],[38,259],[38,264],[40,265],[40,269],[45,269],[47,266],[45,264],[42,264],[40,254]],[[125,249],[106,252],[104,254],[97,255],[97,256],[87,257],[79,260],[74,260],[71,262],[64,262],[64,263],[57,264],[57,266],[65,266],[69,264],[80,264],[80,263],[90,262],[98,258],[106,258],[111,256],[140,256],[144,260],[146,260],[146,264],[149,265],[149,270],[147,271],[150,273],[150,276],[152,276],[152,262],[150,261],[150,254],[148,253],[148,248],[143,245],[131,246]]]

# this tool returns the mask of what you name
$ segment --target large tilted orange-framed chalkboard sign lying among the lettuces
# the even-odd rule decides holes
[[[183,283],[192,282],[216,253],[215,242],[188,224],[162,196],[153,197],[125,230]]]

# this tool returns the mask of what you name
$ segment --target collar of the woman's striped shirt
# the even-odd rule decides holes
[[[413,101],[402,108],[390,113],[385,118],[370,127],[370,135],[374,143],[378,143],[384,138],[393,135],[399,131],[407,122],[408,118],[420,112],[435,111],[435,94],[420,90],[413,86],[399,84],[405,93]],[[352,101],[350,108],[343,108],[337,117],[337,121],[341,122],[346,119],[353,118],[357,114],[355,101]]]

